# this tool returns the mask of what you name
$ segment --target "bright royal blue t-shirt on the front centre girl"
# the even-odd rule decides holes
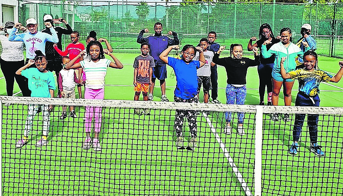
[[[200,62],[192,60],[187,64],[181,59],[168,57],[168,64],[174,69],[176,75],[175,96],[182,99],[196,96],[198,93],[197,69],[200,68]]]

